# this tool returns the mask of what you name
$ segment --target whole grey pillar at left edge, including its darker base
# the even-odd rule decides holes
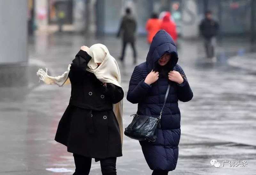
[[[27,86],[28,0],[0,0],[0,87]]]

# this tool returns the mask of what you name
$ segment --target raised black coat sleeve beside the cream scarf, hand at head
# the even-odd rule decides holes
[[[88,62],[92,57],[85,51],[80,50],[72,61],[68,77],[71,82],[77,82],[85,75]]]

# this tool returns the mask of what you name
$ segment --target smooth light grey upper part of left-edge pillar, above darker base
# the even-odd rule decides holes
[[[0,0],[0,64],[28,61],[28,1]]]

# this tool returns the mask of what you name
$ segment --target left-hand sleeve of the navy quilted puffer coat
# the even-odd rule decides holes
[[[133,104],[139,103],[151,90],[151,85],[144,82],[141,70],[138,66],[134,68],[127,92],[127,100]]]

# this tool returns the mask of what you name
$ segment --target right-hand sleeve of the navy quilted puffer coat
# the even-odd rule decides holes
[[[188,79],[183,71],[183,69],[177,65],[176,71],[178,71],[181,75],[184,75],[184,82],[178,85],[178,98],[182,102],[190,101],[193,98],[193,92],[188,84]]]

